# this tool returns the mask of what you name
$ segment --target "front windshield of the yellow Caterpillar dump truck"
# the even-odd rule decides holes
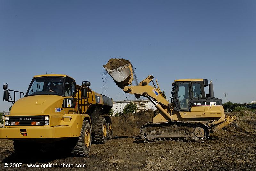
[[[28,88],[26,96],[63,95],[63,77],[36,77]]]

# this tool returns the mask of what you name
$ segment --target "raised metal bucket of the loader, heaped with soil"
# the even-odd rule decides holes
[[[120,59],[111,59],[115,60],[115,62],[119,62]],[[110,61],[110,60],[109,60]],[[116,85],[121,89],[124,89],[125,86],[131,85],[133,80],[133,72],[132,72],[132,65],[129,61],[127,64],[122,66],[117,66],[117,68],[113,69],[113,66],[108,65],[109,61],[103,67],[106,69],[108,74],[113,78]]]

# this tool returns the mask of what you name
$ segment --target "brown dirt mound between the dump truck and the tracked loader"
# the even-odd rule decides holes
[[[138,113],[128,113],[123,116],[112,117],[114,136],[138,136],[140,128],[147,122],[152,122],[152,118],[158,111],[148,109]]]

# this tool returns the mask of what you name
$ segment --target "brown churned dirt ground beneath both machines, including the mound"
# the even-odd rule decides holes
[[[150,121],[155,113],[146,111],[141,114],[112,118],[113,139],[105,144],[92,144],[90,154],[83,158],[61,152],[19,157],[14,153],[13,141],[0,139],[0,169],[52,170],[23,165],[64,163],[86,164],[86,168],[74,170],[256,170],[254,113],[237,113],[239,128],[228,127],[210,134],[204,143],[144,143],[138,136],[139,127],[144,121]],[[233,114],[236,113],[228,113]],[[4,163],[22,163],[22,167],[4,168]]]

